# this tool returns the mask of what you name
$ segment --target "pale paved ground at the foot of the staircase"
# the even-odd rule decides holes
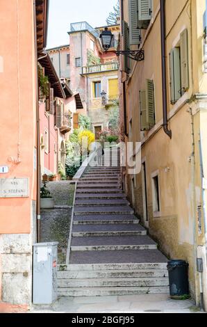
[[[33,313],[195,313],[201,312],[193,301],[174,301],[167,294],[147,294],[134,296],[101,296],[59,298],[53,305],[35,305]]]

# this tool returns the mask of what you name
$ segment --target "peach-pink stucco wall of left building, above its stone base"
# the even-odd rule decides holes
[[[18,21],[16,1],[0,1],[0,165],[9,167],[0,178],[29,178],[28,198],[0,198],[0,234],[31,232],[31,201],[36,198],[33,26],[33,1],[19,1]],[[21,162],[15,164],[8,158],[17,158],[18,143]]]

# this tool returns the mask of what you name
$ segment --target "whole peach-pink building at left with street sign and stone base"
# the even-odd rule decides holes
[[[0,1],[0,312],[28,308],[37,241],[38,67],[47,0]],[[35,30],[37,26],[37,30]]]

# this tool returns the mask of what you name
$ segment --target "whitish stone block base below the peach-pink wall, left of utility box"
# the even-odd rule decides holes
[[[0,234],[1,301],[31,304],[32,244],[30,234]]]

